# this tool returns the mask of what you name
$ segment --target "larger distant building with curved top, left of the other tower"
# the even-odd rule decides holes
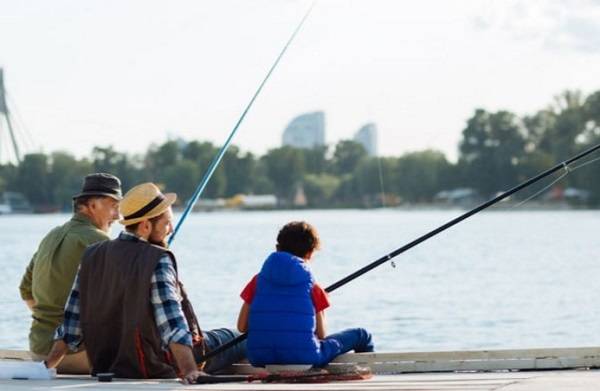
[[[283,131],[282,145],[295,148],[325,145],[325,113],[315,111],[294,118]]]

